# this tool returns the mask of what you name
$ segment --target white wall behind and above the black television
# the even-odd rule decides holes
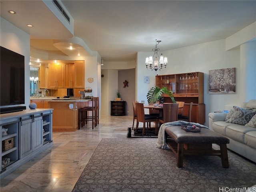
[[[30,103],[30,36],[4,18],[0,19],[1,46],[25,57],[25,106],[28,108]]]

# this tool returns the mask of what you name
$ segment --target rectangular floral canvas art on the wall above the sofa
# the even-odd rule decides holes
[[[236,68],[209,70],[209,93],[236,93]]]

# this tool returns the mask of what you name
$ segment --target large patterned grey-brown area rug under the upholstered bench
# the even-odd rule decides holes
[[[218,156],[185,156],[178,168],[172,151],[156,142],[103,138],[72,192],[219,192],[256,184],[256,164],[230,151],[229,168]]]

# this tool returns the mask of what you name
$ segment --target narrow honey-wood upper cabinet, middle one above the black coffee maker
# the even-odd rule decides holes
[[[64,88],[74,88],[74,69],[75,65],[71,63],[64,64]]]

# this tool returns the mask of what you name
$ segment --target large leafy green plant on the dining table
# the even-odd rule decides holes
[[[162,94],[167,94],[171,98],[172,102],[176,103],[171,90],[168,90],[167,87],[160,88],[158,86],[154,86],[148,91],[148,94],[147,94],[148,103],[149,104],[156,103],[161,98]]]

